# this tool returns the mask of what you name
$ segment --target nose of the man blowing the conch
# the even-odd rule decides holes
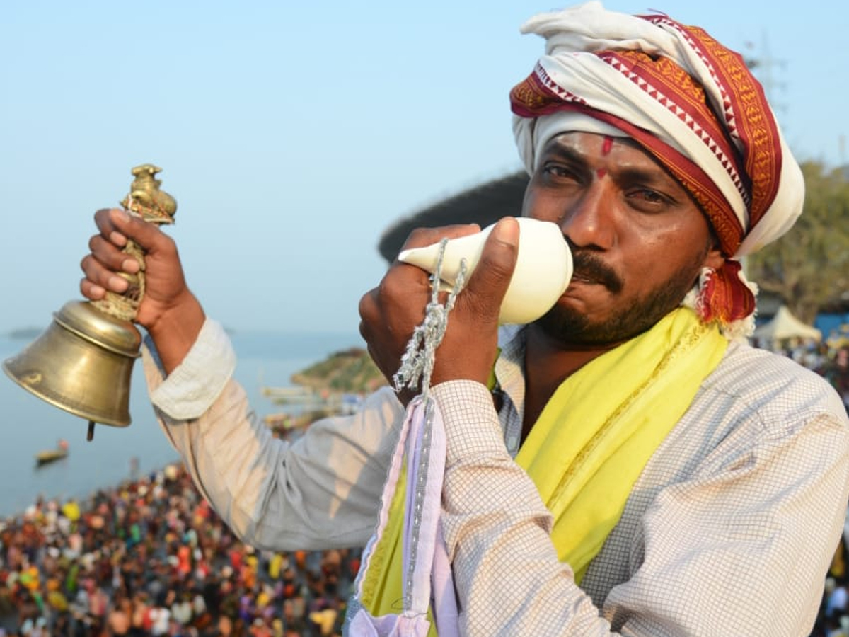
[[[615,201],[610,189],[600,184],[573,200],[560,220],[560,229],[574,245],[608,250],[616,245]]]

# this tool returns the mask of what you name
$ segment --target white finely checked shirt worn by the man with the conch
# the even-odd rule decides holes
[[[513,462],[524,347],[520,330],[503,336],[500,414],[478,383],[432,390],[447,429],[443,530],[464,634],[810,632],[849,498],[849,421],[825,381],[732,344],[578,587],[548,539],[548,510]],[[240,538],[270,550],[365,544],[403,417],[389,388],[288,445],[230,380],[220,325],[207,321],[167,380],[152,353],[145,373],[166,435]]]

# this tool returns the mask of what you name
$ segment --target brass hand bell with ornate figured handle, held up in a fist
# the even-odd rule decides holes
[[[154,179],[160,168],[144,164],[132,169],[136,177],[121,205],[151,223],[173,223],[177,202],[160,191]],[[143,264],[143,251],[128,242],[124,248]],[[97,302],[70,301],[53,313],[53,323],[3,370],[18,385],[59,409],[88,420],[87,439],[94,423],[130,424],[130,378],[139,357],[142,335],[132,324],[144,293],[143,270],[127,275],[129,290],[107,293]]]

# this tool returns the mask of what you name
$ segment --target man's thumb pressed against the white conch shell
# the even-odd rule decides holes
[[[503,217],[486,237],[481,259],[464,290],[469,302],[487,319],[498,321],[518,253],[519,223],[514,217]]]

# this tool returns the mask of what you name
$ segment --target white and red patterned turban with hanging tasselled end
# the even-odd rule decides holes
[[[728,257],[703,318],[750,317],[755,297],[733,257],[790,229],[805,185],[743,58],[699,27],[599,2],[539,14],[522,31],[546,40],[531,75],[510,93],[527,171],[561,132],[633,138],[688,190]]]

